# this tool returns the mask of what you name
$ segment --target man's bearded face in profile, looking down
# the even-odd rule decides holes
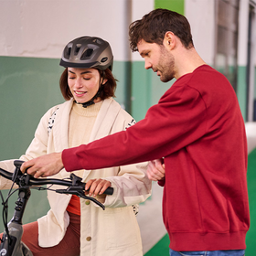
[[[144,58],[145,69],[153,69],[163,82],[175,77],[174,56],[164,45],[147,43],[142,39],[138,42],[137,48],[142,58]]]

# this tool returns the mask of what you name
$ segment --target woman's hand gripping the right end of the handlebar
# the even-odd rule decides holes
[[[104,191],[108,188],[112,187],[112,183],[108,180],[97,178],[97,179],[90,179],[86,182],[85,186],[85,195],[89,195],[90,197],[101,196]],[[106,197],[106,195],[102,195],[102,197]]]

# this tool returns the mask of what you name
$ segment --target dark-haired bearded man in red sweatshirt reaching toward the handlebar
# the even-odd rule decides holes
[[[164,186],[170,255],[244,255],[247,144],[235,92],[197,54],[185,16],[156,9],[131,24],[130,41],[145,69],[163,82],[175,78],[173,86],[126,132],[41,156],[22,171],[50,176],[63,167],[70,172],[161,159],[151,163],[148,176]],[[99,184],[96,193],[104,189]]]

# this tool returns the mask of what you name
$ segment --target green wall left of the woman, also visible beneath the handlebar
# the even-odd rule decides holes
[[[63,101],[59,93],[62,68],[58,59],[0,57],[0,160],[19,158],[30,144],[40,117]],[[2,191],[4,197],[7,191]],[[8,219],[14,212],[17,193],[9,200]],[[46,192],[33,190],[24,223],[48,211]],[[2,216],[2,205],[0,206]],[[0,232],[4,230],[0,221]]]

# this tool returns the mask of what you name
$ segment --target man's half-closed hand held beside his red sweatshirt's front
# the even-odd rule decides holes
[[[146,173],[149,179],[158,181],[165,178],[165,164],[163,164],[163,159],[156,159],[150,161]]]

